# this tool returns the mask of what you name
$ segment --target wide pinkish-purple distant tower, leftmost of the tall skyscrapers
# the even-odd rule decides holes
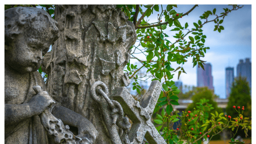
[[[207,86],[209,89],[213,88],[213,80],[212,80],[212,65],[210,63],[206,63],[204,65],[204,69],[201,67],[197,67],[197,86]]]

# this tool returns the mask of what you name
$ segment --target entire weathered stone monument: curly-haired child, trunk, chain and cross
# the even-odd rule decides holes
[[[37,8],[5,11],[5,143],[165,144],[151,122],[160,82],[140,102],[125,88],[134,24],[116,5],[55,8],[56,21]]]

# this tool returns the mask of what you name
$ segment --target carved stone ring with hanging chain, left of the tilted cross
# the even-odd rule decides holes
[[[99,86],[102,89],[99,89]],[[117,101],[111,100],[108,97],[108,87],[101,81],[96,81],[93,83],[90,90],[93,100],[95,100],[101,107],[112,143],[130,144],[127,130],[131,127],[131,124],[129,123],[129,119],[127,117],[123,117],[124,112],[121,104],[119,104]],[[96,95],[96,92],[98,92],[101,96]],[[119,137],[115,124],[124,131],[121,138]]]

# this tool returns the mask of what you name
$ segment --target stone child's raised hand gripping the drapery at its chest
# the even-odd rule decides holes
[[[31,98],[28,105],[34,115],[39,115],[44,112],[50,104],[54,104],[55,101],[49,97],[46,91],[41,91],[37,95]]]

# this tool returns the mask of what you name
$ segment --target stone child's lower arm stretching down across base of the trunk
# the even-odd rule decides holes
[[[52,115],[61,119],[65,125],[77,127],[79,136],[90,138],[92,141],[95,141],[98,136],[98,131],[87,118],[66,107],[55,106],[52,109]]]

